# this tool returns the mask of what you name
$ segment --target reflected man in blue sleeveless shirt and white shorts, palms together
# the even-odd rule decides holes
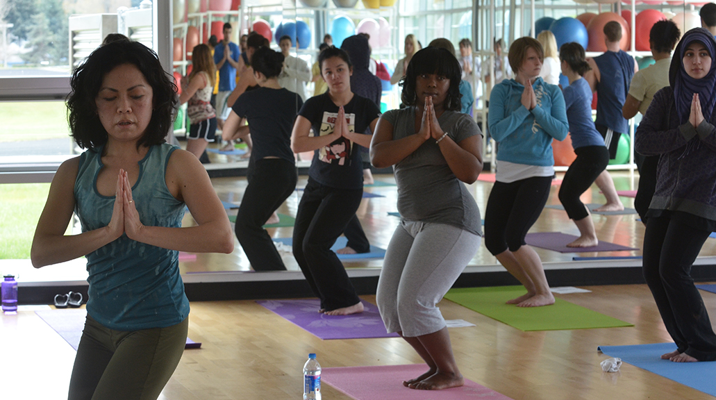
[[[236,87],[236,69],[238,68],[238,57],[241,51],[236,43],[231,42],[231,24],[228,22],[223,26],[223,39],[214,49],[214,64],[219,72],[219,91],[216,94],[216,121],[219,129],[228,118],[233,104],[227,104],[228,95]]]

